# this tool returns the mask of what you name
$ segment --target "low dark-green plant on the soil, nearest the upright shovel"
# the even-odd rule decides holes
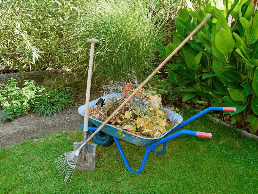
[[[38,116],[47,114],[50,116],[54,112],[60,112],[65,108],[70,108],[74,104],[74,96],[65,90],[59,92],[57,89],[50,90],[39,96],[38,101],[33,106],[33,112]]]

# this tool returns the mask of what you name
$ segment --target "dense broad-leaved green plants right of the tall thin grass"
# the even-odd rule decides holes
[[[236,106],[236,120],[249,122],[258,129],[258,12],[251,1],[223,1],[214,5],[207,0],[200,7],[180,8],[175,18],[173,43],[156,43],[166,58],[204,18],[213,17],[171,59],[169,79],[181,87],[183,101],[214,106]],[[229,15],[234,23],[228,25]],[[191,18],[190,18],[191,16]],[[251,107],[251,109],[249,108]]]

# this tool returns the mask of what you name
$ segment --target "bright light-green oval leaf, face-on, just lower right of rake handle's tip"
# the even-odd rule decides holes
[[[230,53],[235,47],[235,41],[232,37],[232,33],[228,33],[226,30],[221,29],[215,36],[215,45],[217,49],[229,58]]]

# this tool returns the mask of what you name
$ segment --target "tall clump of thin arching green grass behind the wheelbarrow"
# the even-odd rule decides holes
[[[87,39],[91,38],[100,40],[95,44],[93,83],[122,79],[124,73],[142,78],[153,71],[157,57],[154,41],[164,42],[168,34],[163,28],[166,19],[155,8],[155,1],[89,0],[81,7],[77,24],[66,34],[71,46],[79,48],[74,71],[81,81],[87,80]]]

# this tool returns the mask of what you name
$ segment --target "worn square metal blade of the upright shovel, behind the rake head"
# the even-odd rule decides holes
[[[73,143],[73,150],[76,151],[83,144],[81,142]],[[96,153],[96,144],[87,143],[85,147],[82,148],[81,153],[79,154],[75,170],[85,170],[91,171],[95,169],[95,153]]]

